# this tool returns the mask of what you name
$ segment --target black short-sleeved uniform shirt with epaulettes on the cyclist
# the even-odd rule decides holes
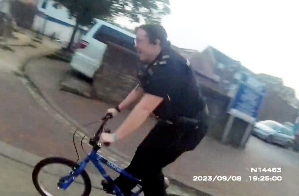
[[[145,93],[164,98],[153,112],[162,119],[196,117],[205,107],[189,62],[172,49],[162,51],[151,64],[142,65],[139,79]]]

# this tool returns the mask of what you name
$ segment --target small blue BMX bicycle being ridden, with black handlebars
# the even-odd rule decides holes
[[[113,192],[111,194],[115,194],[117,196],[123,196],[123,193],[120,191],[118,186],[113,184],[112,178],[106,173],[105,169],[100,163],[105,164],[109,168],[113,169],[114,171],[123,174],[128,178],[128,180],[132,180],[135,183],[137,183],[139,189],[137,192],[133,193],[132,196],[137,196],[142,192],[142,187],[141,187],[141,180],[138,180],[137,178],[133,177],[131,174],[127,173],[124,171],[122,168],[118,167],[114,163],[108,161],[106,158],[101,156],[100,154],[97,153],[97,151],[101,148],[101,143],[99,142],[100,140],[100,134],[103,132],[110,132],[109,130],[105,130],[105,125],[107,121],[112,118],[111,114],[107,114],[103,119],[103,123],[101,124],[100,128],[94,134],[94,137],[89,139],[89,144],[92,146],[91,152],[87,155],[87,157],[80,163],[76,163],[72,160],[65,159],[63,157],[49,157],[44,160],[41,160],[39,163],[36,164],[36,166],[33,169],[32,172],[32,180],[35,188],[37,191],[43,195],[43,196],[55,196],[62,194],[66,195],[65,191],[61,190],[67,190],[70,189],[71,187],[74,187],[73,191],[70,193],[70,195],[75,195],[74,193],[81,195],[81,196],[88,196],[91,193],[91,180],[87,172],[85,171],[87,164],[89,161],[91,161],[94,166],[98,169],[98,171],[102,174],[102,176],[107,180],[107,182],[111,183],[113,186]],[[75,136],[75,133],[74,133]],[[73,141],[74,141],[74,136],[73,136]],[[81,146],[82,146],[82,141],[84,137],[81,140]],[[75,144],[75,143],[74,143]],[[109,144],[105,144],[105,146],[109,146]],[[82,146],[83,148],[83,146]],[[75,145],[75,149],[77,152],[77,148]],[[84,151],[84,149],[83,149]],[[77,152],[78,155],[78,152]],[[79,155],[78,155],[78,160],[79,160]],[[77,161],[78,161],[77,160]],[[58,166],[64,166],[66,170],[60,170]],[[49,166],[49,168],[48,168]],[[39,176],[42,174],[45,174],[45,182],[51,182],[51,181],[56,181],[53,180],[53,177],[59,177],[58,182],[54,182],[55,186],[52,186],[51,188],[54,188],[52,192],[47,190],[45,186],[42,186],[42,183],[44,181],[39,180]],[[80,178],[80,179],[79,179]],[[46,184],[47,184],[46,183]],[[76,186],[70,186],[71,183],[75,183]],[[103,184],[102,184],[103,185]],[[83,192],[80,192],[80,188],[83,189]],[[105,188],[104,188],[105,190]]]

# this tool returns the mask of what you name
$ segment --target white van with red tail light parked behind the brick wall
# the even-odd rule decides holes
[[[102,64],[107,41],[135,51],[135,34],[113,24],[95,19],[95,24],[82,36],[71,60],[71,68],[92,78]]]

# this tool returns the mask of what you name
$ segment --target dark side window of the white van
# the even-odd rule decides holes
[[[97,30],[94,34],[94,39],[103,43],[109,41],[136,52],[134,47],[134,38],[105,25],[101,25],[101,27]]]

